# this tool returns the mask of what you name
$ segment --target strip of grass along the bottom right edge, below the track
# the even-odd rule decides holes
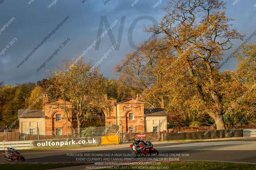
[[[124,169],[175,169],[175,170],[212,170],[212,169],[227,169],[227,170],[237,170],[237,169],[256,169],[255,164],[244,164],[244,163],[232,163],[232,162],[212,162],[212,161],[185,161],[185,162],[168,162],[161,163],[161,165],[132,165],[125,166]],[[107,168],[108,169],[120,169],[120,167],[116,168]]]

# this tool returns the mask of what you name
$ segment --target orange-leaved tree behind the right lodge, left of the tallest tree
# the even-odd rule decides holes
[[[204,110],[205,102],[198,97],[193,79],[189,76],[185,64],[175,64],[176,57],[159,58],[156,70],[163,73],[162,84],[153,84],[145,91],[146,96],[165,96],[164,109],[170,114],[172,125],[188,126],[191,122],[209,122]]]

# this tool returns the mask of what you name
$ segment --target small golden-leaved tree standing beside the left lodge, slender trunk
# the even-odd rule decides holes
[[[73,59],[64,61],[63,67],[55,72],[54,81],[62,99],[72,103],[79,136],[81,122],[110,107],[103,97],[106,93],[105,78],[92,63],[84,63],[83,58],[78,62]],[[65,112],[68,114],[68,110]]]

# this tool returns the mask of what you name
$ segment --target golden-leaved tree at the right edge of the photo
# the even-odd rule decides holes
[[[238,64],[235,71],[228,71],[234,82],[229,85],[226,95],[225,120],[237,124],[244,116],[243,124],[255,124],[256,106],[256,44],[246,44],[236,53]],[[252,111],[252,112],[251,112]]]

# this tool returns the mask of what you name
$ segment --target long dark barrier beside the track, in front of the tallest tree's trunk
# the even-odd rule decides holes
[[[243,137],[242,129],[235,129],[234,132],[229,133],[231,130],[213,130],[199,131],[199,132],[185,132],[185,133],[163,133],[163,140],[189,140],[189,139],[216,139],[226,137]],[[229,135],[227,135],[229,134]]]

